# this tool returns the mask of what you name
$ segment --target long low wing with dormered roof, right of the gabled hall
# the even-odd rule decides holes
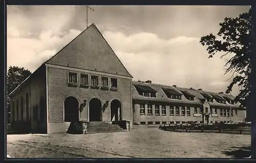
[[[231,95],[148,81],[133,82],[133,122],[136,124],[245,121],[245,108],[240,102],[235,103]]]

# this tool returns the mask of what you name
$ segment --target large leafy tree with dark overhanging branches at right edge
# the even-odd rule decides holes
[[[235,101],[240,101],[246,106],[248,103],[251,83],[251,58],[252,58],[252,11],[240,14],[239,17],[226,17],[220,23],[220,31],[216,37],[212,33],[201,37],[200,43],[207,47],[209,58],[216,52],[223,52],[221,57],[227,56],[225,73],[232,73],[232,82],[227,87],[226,93],[230,93],[233,86],[238,84],[239,94]],[[230,79],[231,79],[230,78]]]

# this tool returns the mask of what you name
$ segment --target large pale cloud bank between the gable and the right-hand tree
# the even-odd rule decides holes
[[[105,31],[103,36],[113,47],[134,80],[179,87],[225,91],[224,60],[218,55],[209,59],[199,38],[178,36],[168,40],[152,33],[126,36],[121,32]]]

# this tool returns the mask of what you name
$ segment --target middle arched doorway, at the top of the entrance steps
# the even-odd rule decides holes
[[[89,102],[89,121],[99,122],[102,121],[102,108],[101,101],[97,98],[93,98]]]

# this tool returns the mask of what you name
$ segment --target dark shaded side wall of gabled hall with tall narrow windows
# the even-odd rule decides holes
[[[17,130],[29,130],[31,132],[46,133],[46,120],[39,121],[42,117],[40,114],[46,113],[46,107],[39,107],[40,99],[46,102],[46,79],[45,67],[41,67],[36,76],[29,78],[29,80],[20,87],[14,94],[11,95],[11,123]],[[28,95],[28,96],[27,96]],[[28,103],[26,98],[28,97]],[[21,102],[23,99],[23,102]],[[18,103],[17,103],[18,100]],[[22,104],[23,103],[23,107]],[[28,104],[28,106],[27,106]],[[18,106],[18,110],[17,110]],[[33,107],[37,106],[37,115],[35,117]],[[28,107],[28,108],[27,108]],[[23,108],[23,111],[22,111]],[[42,109],[43,111],[40,111]],[[18,111],[18,113],[17,113]],[[28,111],[28,114],[27,114]],[[23,114],[22,114],[23,112]],[[22,117],[23,115],[23,117]],[[46,116],[44,115],[46,119]]]

